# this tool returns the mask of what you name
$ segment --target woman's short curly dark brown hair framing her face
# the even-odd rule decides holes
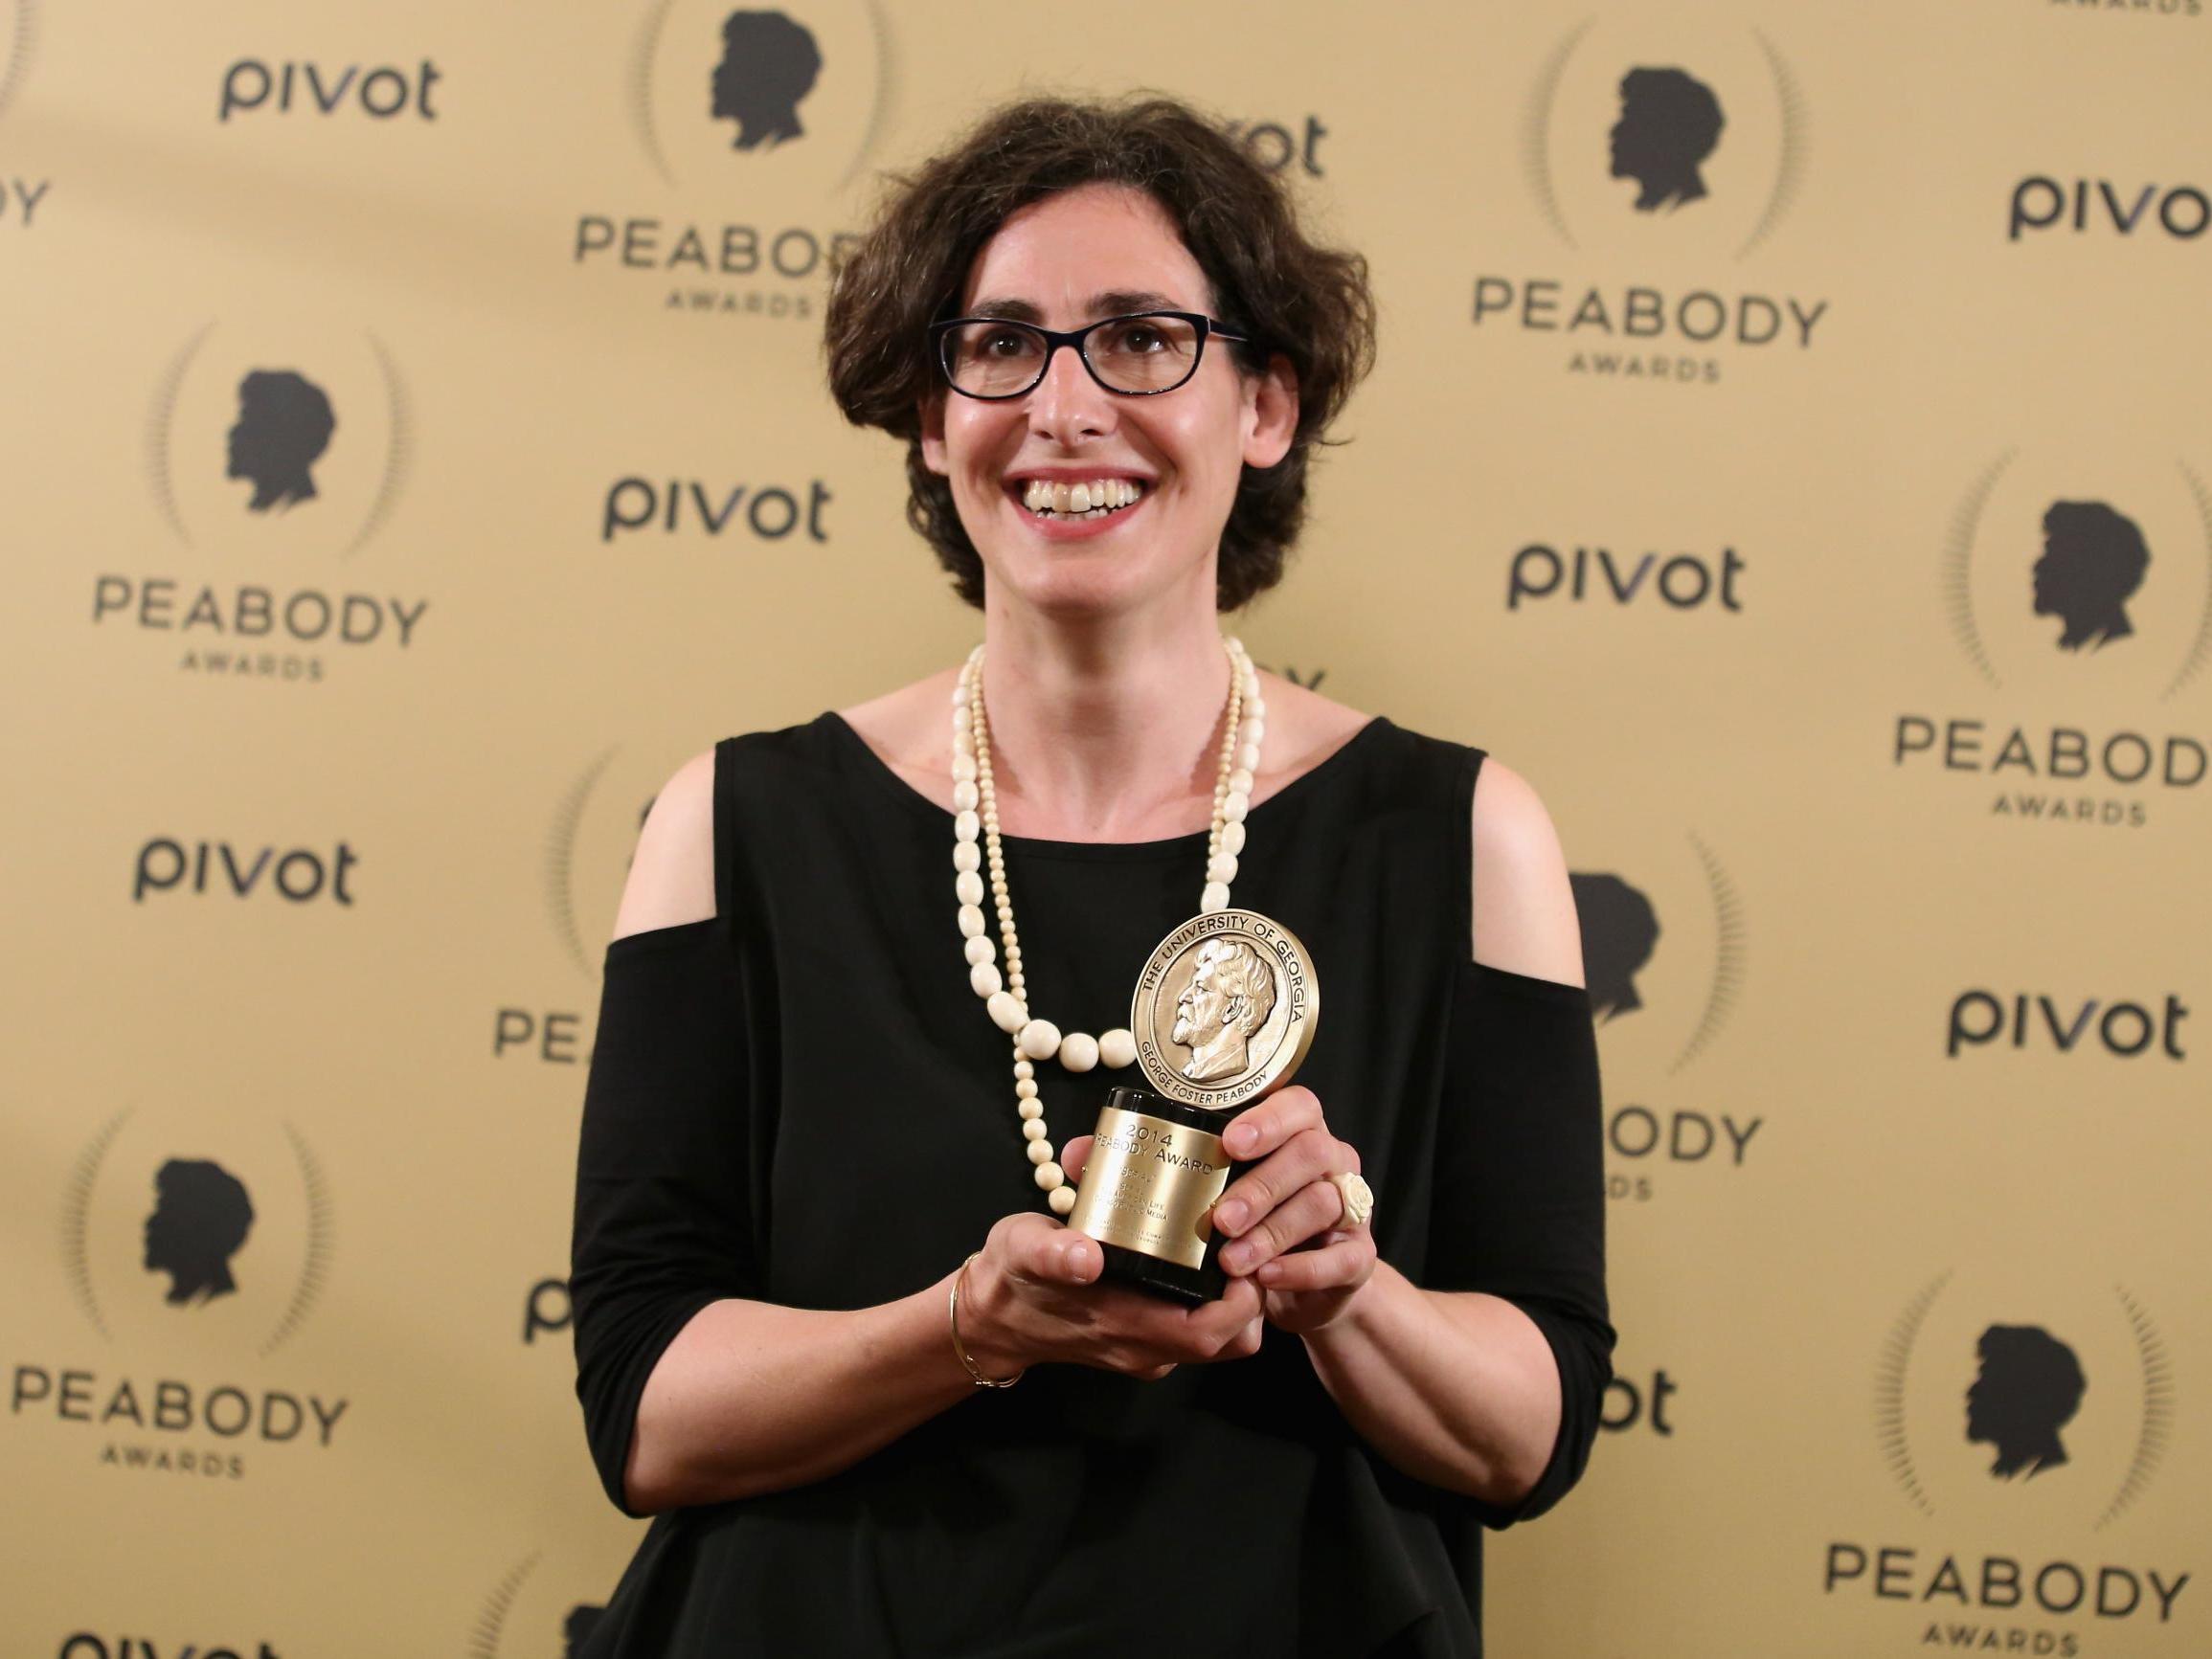
[[[953,148],[891,179],[874,228],[836,263],[825,319],[830,392],[845,418],[907,440],[907,522],[953,591],[982,604],[982,560],[951,484],[922,462],[920,409],[945,396],[927,325],[958,299],[982,246],[1018,210],[1084,184],[1144,190],[1214,290],[1214,314],[1298,376],[1298,427],[1274,467],[1245,467],[1221,531],[1217,604],[1234,611],[1283,577],[1305,522],[1312,449],[1374,365],[1376,312],[1360,254],[1321,248],[1287,190],[1221,128],[1168,97],[1040,97],[987,115]]]

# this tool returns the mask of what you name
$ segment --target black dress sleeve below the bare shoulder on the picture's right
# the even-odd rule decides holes
[[[1559,1367],[1559,1438],[1486,1526],[1531,1520],[1582,1478],[1613,1378],[1597,1033],[1588,991],[1460,962],[1451,993],[1425,1285],[1520,1307]]]

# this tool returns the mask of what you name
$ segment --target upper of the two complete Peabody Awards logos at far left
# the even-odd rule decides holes
[[[210,323],[146,420],[155,513],[199,568],[100,571],[93,626],[153,635],[184,672],[221,679],[310,684],[414,648],[429,599],[352,575],[407,449],[407,394],[374,334]]]

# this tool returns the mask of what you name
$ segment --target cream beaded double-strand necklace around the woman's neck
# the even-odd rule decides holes
[[[1221,772],[1214,779],[1214,816],[1206,832],[1206,889],[1199,911],[1228,909],[1230,883],[1237,880],[1237,854],[1245,845],[1245,812],[1252,810],[1252,774],[1259,770],[1259,745],[1267,734],[1267,703],[1259,692],[1259,672],[1237,639],[1223,639],[1230,659],[1228,726],[1221,739]],[[1057,1057],[1062,1071],[1082,1073],[1099,1062],[1113,1068],[1137,1060],[1137,1037],[1113,1029],[1102,1037],[1084,1031],[1060,1033],[1051,1020],[1029,1015],[1029,982],[1022,975],[1022,940],[1013,927],[1013,896],[1006,891],[1006,860],[998,843],[998,794],[991,787],[991,723],[982,712],[982,646],[969,653],[953,688],[953,891],[960,898],[960,938],[967,940],[969,987],[984,1000],[991,1024],[1013,1037],[1013,1095],[1022,1115],[1022,1139],[1029,1161],[1053,1214],[1075,1208],[1075,1188],[1066,1170],[1053,1161],[1053,1144],[1044,1128],[1044,1102],[1037,1099],[1037,1060]],[[975,841],[982,838],[978,849]],[[998,909],[998,936],[1006,956],[1000,978],[998,951],[984,933],[982,896],[989,865],[989,889]]]

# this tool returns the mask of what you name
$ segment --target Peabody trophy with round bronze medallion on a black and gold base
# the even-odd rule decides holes
[[[1212,1219],[1234,1172],[1221,1130],[1290,1082],[1318,1013],[1305,947],[1259,911],[1192,916],[1159,942],[1128,1018],[1152,1088],[1106,1095],[1068,1212],[1104,1248],[1108,1279],[1186,1303],[1221,1296]]]

